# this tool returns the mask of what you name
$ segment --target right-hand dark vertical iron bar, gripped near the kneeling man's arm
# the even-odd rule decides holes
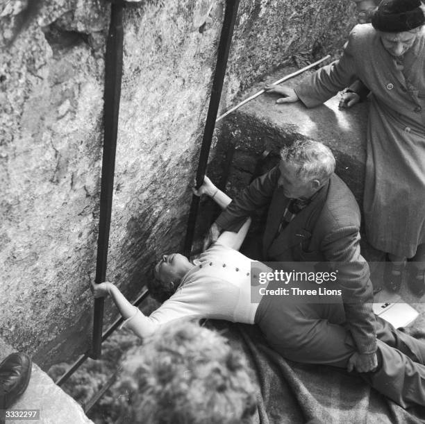
[[[215,119],[217,118],[220,96],[222,95],[224,75],[226,74],[228,52],[230,50],[232,42],[233,28],[235,26],[236,15],[238,14],[238,6],[239,0],[226,1],[226,11],[224,12],[222,33],[220,35],[219,46],[217,49],[217,63],[215,65],[215,74],[213,79],[213,87],[211,89],[210,105],[208,106],[208,115],[206,118],[205,129],[203,130],[201,153],[199,154],[196,185],[197,188],[201,187],[203,183],[203,176],[205,176],[208,155],[210,153],[211,142],[213,140]],[[188,230],[186,232],[185,246],[183,252],[184,255],[187,257],[190,257],[190,251],[192,250],[194,227],[197,222],[198,209],[199,197],[193,195],[192,203],[190,205]]]

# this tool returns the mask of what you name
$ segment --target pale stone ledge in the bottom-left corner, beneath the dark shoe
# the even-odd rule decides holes
[[[15,349],[0,339],[0,362],[13,352]],[[28,388],[9,410],[12,409],[40,409],[40,420],[30,423],[92,423],[81,406],[34,363]],[[28,424],[28,420],[6,420],[6,424]]]

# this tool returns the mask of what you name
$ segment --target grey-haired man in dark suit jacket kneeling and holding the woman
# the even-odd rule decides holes
[[[283,148],[278,166],[254,180],[213,223],[209,241],[223,230],[238,230],[270,202],[258,260],[344,263],[338,283],[357,348],[349,369],[367,372],[378,362],[369,266],[360,255],[360,210],[334,170],[335,158],[322,143],[303,140]]]

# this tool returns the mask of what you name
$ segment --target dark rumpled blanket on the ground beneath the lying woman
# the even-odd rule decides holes
[[[425,423],[425,408],[403,409],[358,375],[331,366],[299,364],[267,346],[256,325],[209,321],[244,350],[258,386],[260,424]]]

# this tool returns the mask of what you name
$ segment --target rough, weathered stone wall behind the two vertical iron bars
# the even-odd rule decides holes
[[[0,0],[0,43],[24,5]],[[224,0],[206,17],[209,6],[146,0],[124,13],[108,278],[129,297],[182,246]],[[242,0],[221,110],[270,71],[335,53],[352,11],[347,0]],[[44,0],[0,53],[0,335],[42,366],[87,348],[92,326],[109,13],[103,0]]]

